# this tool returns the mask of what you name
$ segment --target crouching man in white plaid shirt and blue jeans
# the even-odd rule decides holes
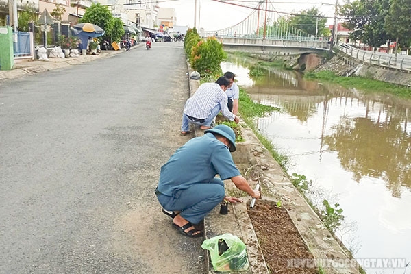
[[[225,90],[231,86],[229,79],[219,77],[215,83],[199,86],[195,94],[188,98],[183,111],[182,135],[189,134],[190,123],[199,125],[200,129],[210,129],[214,118],[221,111],[229,121],[238,123],[240,119],[229,111]]]

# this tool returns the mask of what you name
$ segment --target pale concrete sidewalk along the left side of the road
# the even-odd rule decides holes
[[[138,45],[137,45],[138,46]],[[137,47],[135,46],[135,47]],[[79,55],[79,57],[72,58],[49,58],[49,60],[22,60],[15,62],[13,69],[10,71],[0,71],[0,81],[7,79],[18,79],[27,75],[34,75],[50,71],[52,69],[62,69],[66,66],[73,66],[75,64],[82,64],[97,60],[99,58],[108,58],[124,52],[125,49],[119,51],[101,51],[99,55]]]

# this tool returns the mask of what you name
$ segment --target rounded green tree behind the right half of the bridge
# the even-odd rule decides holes
[[[325,27],[325,23],[327,18],[324,18],[317,8],[301,10],[298,15],[290,17],[292,26],[314,36],[329,36],[329,29]]]

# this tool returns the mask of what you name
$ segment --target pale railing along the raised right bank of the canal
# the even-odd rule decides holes
[[[337,45],[340,51],[353,58],[366,62],[368,64],[377,64],[378,66],[386,66],[388,68],[401,69],[403,71],[411,71],[411,56],[382,53],[378,51],[363,51],[348,44]]]

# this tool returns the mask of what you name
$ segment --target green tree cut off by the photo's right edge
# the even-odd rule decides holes
[[[385,17],[385,29],[396,38],[398,43],[410,45],[411,40],[411,2],[410,0],[392,0],[388,14]],[[397,51],[396,51],[397,52]]]

